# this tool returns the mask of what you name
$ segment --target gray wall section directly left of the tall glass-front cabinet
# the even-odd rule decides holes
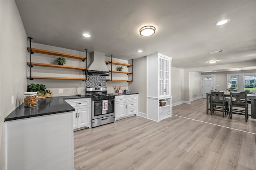
[[[133,82],[129,83],[130,91],[139,93],[139,112],[146,114],[146,65],[147,58],[141,57],[133,61]]]

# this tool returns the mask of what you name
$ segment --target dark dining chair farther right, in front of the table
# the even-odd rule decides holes
[[[230,105],[230,119],[232,119],[233,114],[245,115],[245,121],[248,120],[248,103],[247,103],[247,93],[230,93],[231,95],[231,105]],[[233,107],[244,108],[237,109]]]

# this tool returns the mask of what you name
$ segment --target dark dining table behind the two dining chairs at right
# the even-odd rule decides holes
[[[211,106],[209,108],[209,98],[211,93],[206,93],[206,114],[208,114],[209,110],[211,110]],[[230,94],[224,93],[224,97],[231,97]],[[256,95],[248,94],[248,99],[251,99],[251,118],[256,119]]]

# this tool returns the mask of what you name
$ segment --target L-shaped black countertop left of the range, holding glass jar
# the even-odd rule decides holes
[[[17,107],[12,113],[10,113],[4,122],[13,121],[17,119],[25,119],[30,117],[52,115],[56,113],[64,113],[75,111],[74,107],[70,106],[64,99],[80,99],[80,98],[90,98],[85,95],[81,96],[59,96],[59,97],[48,97],[38,100],[38,105],[36,107],[24,108],[24,103]]]

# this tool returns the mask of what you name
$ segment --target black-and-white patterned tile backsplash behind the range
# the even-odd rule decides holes
[[[106,77],[100,75],[87,75],[85,87],[106,87]]]

